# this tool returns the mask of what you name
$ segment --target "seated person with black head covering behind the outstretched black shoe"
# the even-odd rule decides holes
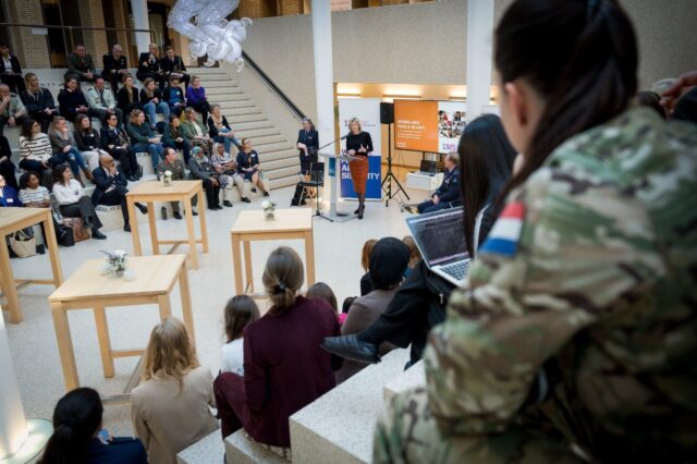
[[[346,320],[341,326],[342,335],[363,332],[380,317],[404,280],[404,271],[408,262],[409,249],[399,239],[388,236],[375,244],[370,253],[369,271],[375,290],[353,301]],[[378,353],[384,356],[394,347],[393,344],[381,343]],[[366,365],[366,363],[345,359],[343,367],[337,373],[337,382],[347,380]]]

